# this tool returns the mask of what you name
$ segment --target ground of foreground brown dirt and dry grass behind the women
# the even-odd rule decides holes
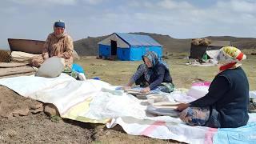
[[[215,66],[186,66],[186,55],[166,59],[170,65],[174,84],[178,88],[190,88],[192,82],[211,81],[217,72]],[[98,77],[113,85],[126,84],[141,62],[121,62],[81,58],[76,63],[84,67],[87,78]],[[243,63],[250,82],[250,90],[256,90],[256,56],[249,56]],[[39,103],[40,104],[40,103]],[[48,117],[43,112],[32,114],[31,106],[37,101],[23,98],[14,91],[0,86],[0,143],[179,143],[126,134],[121,126],[107,129],[104,125],[74,122],[58,117]],[[12,116],[15,110],[27,115]]]

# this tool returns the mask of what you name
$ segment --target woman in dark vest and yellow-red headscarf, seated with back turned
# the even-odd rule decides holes
[[[232,46],[207,54],[218,61],[219,73],[206,96],[178,104],[180,118],[189,125],[214,128],[245,126],[248,122],[249,83],[241,68],[246,55]]]

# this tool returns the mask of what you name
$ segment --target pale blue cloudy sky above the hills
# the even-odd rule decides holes
[[[2,0],[0,18],[0,49],[7,38],[45,40],[58,19],[74,41],[114,32],[256,38],[254,0]]]

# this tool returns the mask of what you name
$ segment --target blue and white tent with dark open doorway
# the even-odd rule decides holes
[[[147,51],[162,57],[162,45],[148,35],[114,33],[98,42],[99,57],[117,57],[122,61],[140,61]]]

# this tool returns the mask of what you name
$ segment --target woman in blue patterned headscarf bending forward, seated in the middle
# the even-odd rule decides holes
[[[143,64],[138,66],[138,70],[130,78],[125,89],[130,88],[134,83],[144,87],[141,92],[149,92],[159,88],[161,91],[170,93],[174,90],[174,84],[170,77],[170,70],[166,62],[162,62],[154,51],[150,51],[142,56]]]

